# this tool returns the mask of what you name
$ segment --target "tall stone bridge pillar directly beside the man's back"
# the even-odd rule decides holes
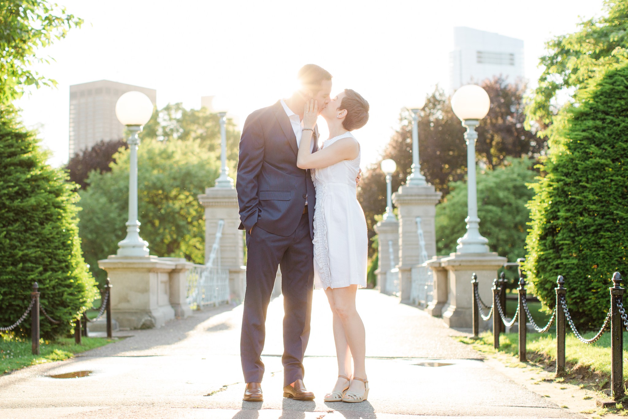
[[[229,269],[229,290],[231,301],[241,302],[244,299],[244,231],[238,230],[240,215],[238,214],[237,192],[233,187],[206,188],[198,200],[205,207],[205,263],[207,263],[212,246],[216,239],[218,221],[224,220],[220,250],[220,267]],[[216,259],[217,265],[218,260]]]

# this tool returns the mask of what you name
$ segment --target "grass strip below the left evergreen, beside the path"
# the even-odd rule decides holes
[[[0,335],[0,373],[7,374],[15,369],[44,362],[63,361],[75,354],[89,351],[111,342],[116,338],[82,337],[81,344],[74,343],[74,338],[61,338],[55,341],[40,340],[40,355],[31,353],[31,341],[19,339],[11,334]]]

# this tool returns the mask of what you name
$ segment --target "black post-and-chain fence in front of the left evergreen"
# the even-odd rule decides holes
[[[77,344],[81,343],[81,336],[87,336],[87,322],[94,323],[97,322],[104,313],[107,313],[107,337],[112,337],[112,327],[111,327],[111,281],[107,278],[107,283],[104,288],[100,291],[100,298],[102,303],[100,304],[100,310],[98,315],[95,318],[88,318],[87,313],[77,314],[77,318],[75,320],[74,326],[74,340]],[[31,292],[31,303],[26,308],[21,317],[18,320],[7,327],[0,327],[0,332],[8,332],[9,330],[13,330],[18,327],[28,314],[31,314],[31,341],[33,346],[33,355],[40,354],[40,316],[39,313],[43,313],[44,317],[52,324],[60,324],[60,320],[55,320],[51,318],[48,313],[46,313],[45,308],[40,305],[40,292],[39,285],[35,282],[33,283],[33,292]],[[82,323],[85,323],[85,327],[82,327]]]

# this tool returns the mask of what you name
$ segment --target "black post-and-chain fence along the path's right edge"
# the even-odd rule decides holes
[[[521,261],[521,259],[519,259]],[[521,276],[521,269],[519,270],[519,276]],[[495,349],[499,348],[499,334],[505,331],[505,327],[511,327],[515,324],[517,318],[519,319],[519,361],[526,361],[526,324],[529,323],[536,332],[546,333],[549,331],[553,324],[556,324],[556,374],[561,375],[565,372],[565,335],[566,324],[569,325],[573,335],[577,337],[583,344],[592,344],[604,335],[604,332],[610,329],[611,333],[611,394],[615,401],[621,400],[624,396],[624,375],[623,375],[623,331],[628,331],[628,315],[625,312],[624,305],[622,304],[622,298],[624,295],[624,288],[620,286],[622,277],[619,272],[615,272],[612,278],[613,286],[609,288],[610,291],[610,307],[609,311],[604,319],[604,324],[600,327],[600,330],[591,339],[585,339],[578,331],[569,308],[566,302],[566,288],[565,278],[562,275],[558,276],[556,281],[556,306],[554,307],[551,317],[548,323],[544,327],[534,322],[534,318],[528,307],[526,299],[526,281],[523,278],[519,278],[519,293],[517,297],[517,309],[510,320],[506,317],[505,302],[506,302],[506,280],[504,273],[501,273],[500,280],[495,279],[493,281],[492,293],[493,303],[487,305],[480,298],[478,290],[477,275],[473,275],[472,288],[473,288],[473,334],[474,337],[479,335],[480,318],[485,322],[488,322],[492,318],[492,329]],[[485,314],[484,309],[489,309],[488,314]],[[499,313],[497,315],[496,313]]]

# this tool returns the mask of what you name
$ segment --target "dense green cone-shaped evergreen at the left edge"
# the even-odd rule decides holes
[[[96,293],[78,239],[75,185],[46,158],[35,134],[0,120],[0,325],[22,315],[36,281],[41,305],[60,320],[41,322],[51,338],[70,332]],[[29,337],[28,318],[14,330]]]

